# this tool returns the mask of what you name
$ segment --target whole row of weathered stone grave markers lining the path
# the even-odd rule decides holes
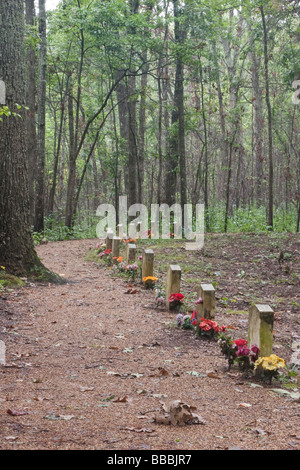
[[[112,256],[120,255],[120,243],[123,238],[122,226],[118,226],[118,235],[114,236],[112,230],[107,230],[106,248],[112,250]],[[127,263],[133,263],[136,259],[135,243],[128,243],[126,250]],[[142,257],[142,279],[154,274],[154,252],[144,249]],[[167,272],[166,304],[169,309],[168,299],[170,295],[180,292],[181,269],[178,265],[170,265]],[[202,303],[197,303],[198,318],[215,319],[215,288],[212,284],[200,284],[197,292]],[[269,305],[254,304],[249,310],[248,344],[256,345],[260,349],[260,355],[269,356],[273,351],[273,324],[274,312]]]

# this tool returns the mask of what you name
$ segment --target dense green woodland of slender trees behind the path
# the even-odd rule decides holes
[[[35,234],[94,229],[98,205],[121,195],[202,202],[207,231],[299,231],[299,2],[24,7]]]

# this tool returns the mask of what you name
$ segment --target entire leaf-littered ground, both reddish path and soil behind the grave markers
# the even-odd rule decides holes
[[[93,259],[96,243],[38,246],[67,282],[0,293],[0,449],[300,449],[299,369],[271,384],[228,371],[217,342],[179,329],[151,290],[136,283],[128,294],[128,281]],[[216,321],[234,339],[247,338],[252,302],[271,305],[274,352],[290,363],[300,341],[299,237],[208,235],[200,253],[180,241],[143,246],[155,249],[162,283],[168,264],[181,266],[191,308],[199,283],[214,282]],[[159,422],[174,400],[195,407],[198,424]]]

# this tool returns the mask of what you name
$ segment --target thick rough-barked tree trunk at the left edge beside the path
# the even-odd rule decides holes
[[[25,102],[24,2],[0,2],[0,77],[7,88],[6,105],[22,116]],[[24,117],[24,116],[23,116]],[[27,275],[43,266],[34,250],[29,223],[25,121],[5,117],[0,123],[0,265]]]

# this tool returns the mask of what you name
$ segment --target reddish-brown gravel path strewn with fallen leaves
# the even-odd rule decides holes
[[[85,261],[94,246],[38,247],[68,283],[0,301],[0,449],[300,448],[299,402],[227,373],[216,343],[170,326],[151,291],[126,295],[126,281]],[[153,422],[177,399],[205,424]]]

